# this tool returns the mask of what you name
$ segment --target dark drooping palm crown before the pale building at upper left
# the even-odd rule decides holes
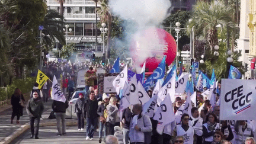
[[[43,23],[41,23],[41,25],[44,26],[44,30],[42,31],[44,34],[43,43],[46,44],[47,48],[52,46],[52,44],[56,42],[56,39],[59,40],[62,45],[66,44],[62,27],[62,25],[65,24],[65,22],[62,21],[63,19],[64,18],[58,12],[54,10],[47,11]]]

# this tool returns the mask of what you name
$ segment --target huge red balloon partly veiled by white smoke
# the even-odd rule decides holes
[[[161,28],[148,28],[130,44],[131,55],[135,63],[143,66],[146,61],[146,69],[153,72],[162,60],[167,56],[165,63],[171,65],[176,56],[176,41],[167,31]]]

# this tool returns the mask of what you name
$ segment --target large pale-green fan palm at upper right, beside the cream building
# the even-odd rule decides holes
[[[217,28],[218,24],[232,26],[233,9],[226,6],[223,1],[212,1],[210,3],[198,1],[193,7],[193,14],[189,28],[194,26],[197,34],[203,34],[210,46],[210,52],[213,54],[213,47],[218,45]],[[197,35],[198,36],[198,35]]]

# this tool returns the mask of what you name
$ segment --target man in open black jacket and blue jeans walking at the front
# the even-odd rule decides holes
[[[98,101],[95,99],[94,91],[91,91],[89,98],[85,102],[85,118],[87,120],[87,137],[86,140],[92,140],[94,131],[97,128],[98,123]]]

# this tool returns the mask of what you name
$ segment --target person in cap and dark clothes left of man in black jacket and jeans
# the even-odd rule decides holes
[[[84,130],[84,107],[85,98],[82,93],[79,94],[78,100],[75,103],[75,113],[78,117],[78,130]]]

